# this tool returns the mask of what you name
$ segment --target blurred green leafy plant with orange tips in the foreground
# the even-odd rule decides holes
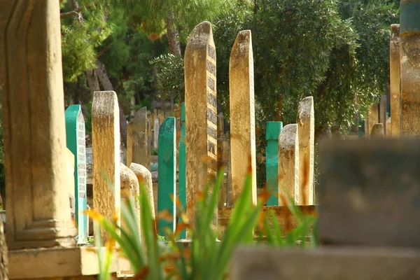
[[[116,249],[113,242],[120,246],[120,253],[130,261],[132,271],[137,279],[226,279],[230,267],[230,259],[239,244],[254,243],[254,229],[260,236],[265,237],[267,246],[304,246],[306,237],[310,237],[311,246],[316,246],[316,237],[311,232],[315,218],[302,214],[299,207],[290,204],[288,211],[297,221],[297,227],[281,227],[273,213],[264,214],[261,209],[264,197],[258,200],[257,205],[251,205],[251,173],[246,176],[244,190],[237,199],[232,210],[231,218],[225,232],[218,240],[218,232],[212,228],[214,210],[217,207],[217,197],[223,182],[223,171],[219,173],[216,181],[207,186],[198,194],[199,199],[195,205],[195,223],[188,224],[183,209],[179,215],[183,221],[176,226],[175,232],[167,230],[167,242],[164,237],[157,235],[153,220],[151,206],[148,202],[146,189],[141,184],[139,196],[141,228],[144,239],[137,227],[135,214],[135,200],[130,197],[127,204],[121,205],[121,218],[127,229],[121,228],[116,221],[109,221],[90,211],[91,218],[106,230],[111,240],[106,248],[99,249],[100,237],[95,236],[95,244],[100,262],[100,279],[109,279],[110,263]],[[179,203],[177,203],[179,204]],[[167,214],[165,214],[167,215]],[[161,215],[165,218],[165,215]],[[190,244],[186,246],[177,241],[184,229],[188,230]],[[98,232],[98,230],[96,231]],[[120,232],[120,233],[118,233]]]

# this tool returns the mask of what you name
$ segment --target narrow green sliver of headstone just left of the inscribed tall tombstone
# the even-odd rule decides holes
[[[179,139],[179,174],[178,174],[178,186],[179,186],[179,202],[184,210],[187,207],[186,197],[186,104],[183,102],[181,107],[181,139]],[[181,222],[181,217],[179,218]],[[183,230],[180,235],[181,239],[186,238],[186,230]]]

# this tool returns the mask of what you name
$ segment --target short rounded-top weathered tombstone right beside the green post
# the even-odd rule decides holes
[[[300,202],[299,190],[299,134],[296,124],[286,125],[279,136],[279,205],[294,197]]]

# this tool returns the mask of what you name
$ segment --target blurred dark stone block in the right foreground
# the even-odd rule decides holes
[[[323,244],[420,247],[418,140],[330,141],[320,156]]]

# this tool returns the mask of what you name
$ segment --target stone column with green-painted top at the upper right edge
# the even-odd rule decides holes
[[[420,135],[420,0],[400,1],[401,136]]]

